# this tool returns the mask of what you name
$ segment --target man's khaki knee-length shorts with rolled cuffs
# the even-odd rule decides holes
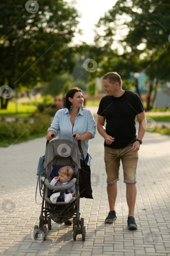
[[[136,183],[136,169],[138,152],[131,150],[133,144],[125,148],[104,147],[104,162],[107,173],[107,184],[113,184],[119,180],[120,160],[123,166],[125,183]]]

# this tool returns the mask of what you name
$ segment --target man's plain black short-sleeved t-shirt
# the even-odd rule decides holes
[[[120,97],[104,96],[99,104],[97,114],[106,118],[106,133],[115,138],[110,145],[123,148],[137,139],[135,117],[144,110],[138,94],[125,91]]]

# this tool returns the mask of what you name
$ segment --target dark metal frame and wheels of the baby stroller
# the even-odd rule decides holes
[[[52,136],[53,137],[53,136]],[[64,143],[67,143],[67,141],[70,143],[70,140],[61,140],[57,139],[58,142],[64,141]],[[55,142],[55,140],[53,140]],[[46,144],[46,152],[48,150],[48,145],[49,141],[47,140]],[[74,143],[74,142],[71,142]],[[51,144],[51,143],[50,143]],[[74,143],[74,147],[78,147],[79,150],[79,160],[80,160],[80,155],[81,155],[81,141],[78,141],[78,146]],[[46,153],[45,153],[45,159],[46,159]],[[45,163],[44,163],[45,165]],[[45,175],[44,175],[44,180],[47,178],[47,173],[46,173],[46,167],[45,169]],[[51,230],[52,224],[51,224],[51,218],[50,218],[50,213],[56,214],[56,217],[62,218],[64,215],[61,214],[61,210],[63,209],[62,212],[67,212],[67,214],[70,214],[70,217],[68,218],[73,218],[73,240],[76,241],[76,236],[78,234],[82,234],[82,240],[85,240],[86,236],[86,227],[84,226],[84,218],[80,218],[80,212],[79,212],[79,177],[80,177],[80,162],[78,166],[78,171],[76,173],[76,182],[75,182],[75,187],[76,187],[76,198],[74,201],[69,202],[67,204],[59,204],[59,209],[56,206],[56,204],[52,204],[55,206],[54,210],[50,210],[48,207],[48,202],[45,200],[45,192],[48,186],[46,186],[45,182],[43,181],[43,197],[42,197],[42,205],[41,205],[41,214],[39,216],[39,226],[35,225],[34,226],[34,231],[33,231],[33,237],[34,241],[39,240],[39,235],[41,237],[41,240],[46,240],[47,238],[47,226],[48,229]],[[42,176],[41,176],[42,178]],[[45,201],[45,207],[44,207],[44,201]],[[76,202],[75,202],[76,201]],[[57,208],[57,209],[56,209]],[[44,215],[43,215],[44,214]],[[39,240],[40,241],[40,240]]]

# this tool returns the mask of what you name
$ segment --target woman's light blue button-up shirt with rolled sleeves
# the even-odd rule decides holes
[[[96,133],[96,124],[93,118],[93,115],[88,109],[79,109],[79,113],[74,120],[74,127],[72,127],[70,121],[70,114],[68,109],[59,109],[55,116],[54,120],[51,124],[49,130],[53,130],[56,133],[57,139],[67,139],[72,140],[76,144],[78,144],[77,140],[73,139],[72,134],[74,132],[82,135],[86,132],[91,132],[92,138],[94,138]],[[84,158],[86,158],[88,153],[88,140],[81,140],[82,150]],[[90,165],[91,156],[89,155],[88,165]]]

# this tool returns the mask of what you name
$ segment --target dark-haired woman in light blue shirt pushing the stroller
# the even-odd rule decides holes
[[[93,139],[96,124],[90,110],[83,109],[83,94],[78,87],[70,89],[66,94],[66,108],[56,112],[51,127],[48,128],[47,140],[51,140],[54,133],[57,139],[68,139],[76,144],[81,140],[82,151],[88,165],[91,156],[88,154],[88,140]],[[73,135],[76,135],[75,138]]]

